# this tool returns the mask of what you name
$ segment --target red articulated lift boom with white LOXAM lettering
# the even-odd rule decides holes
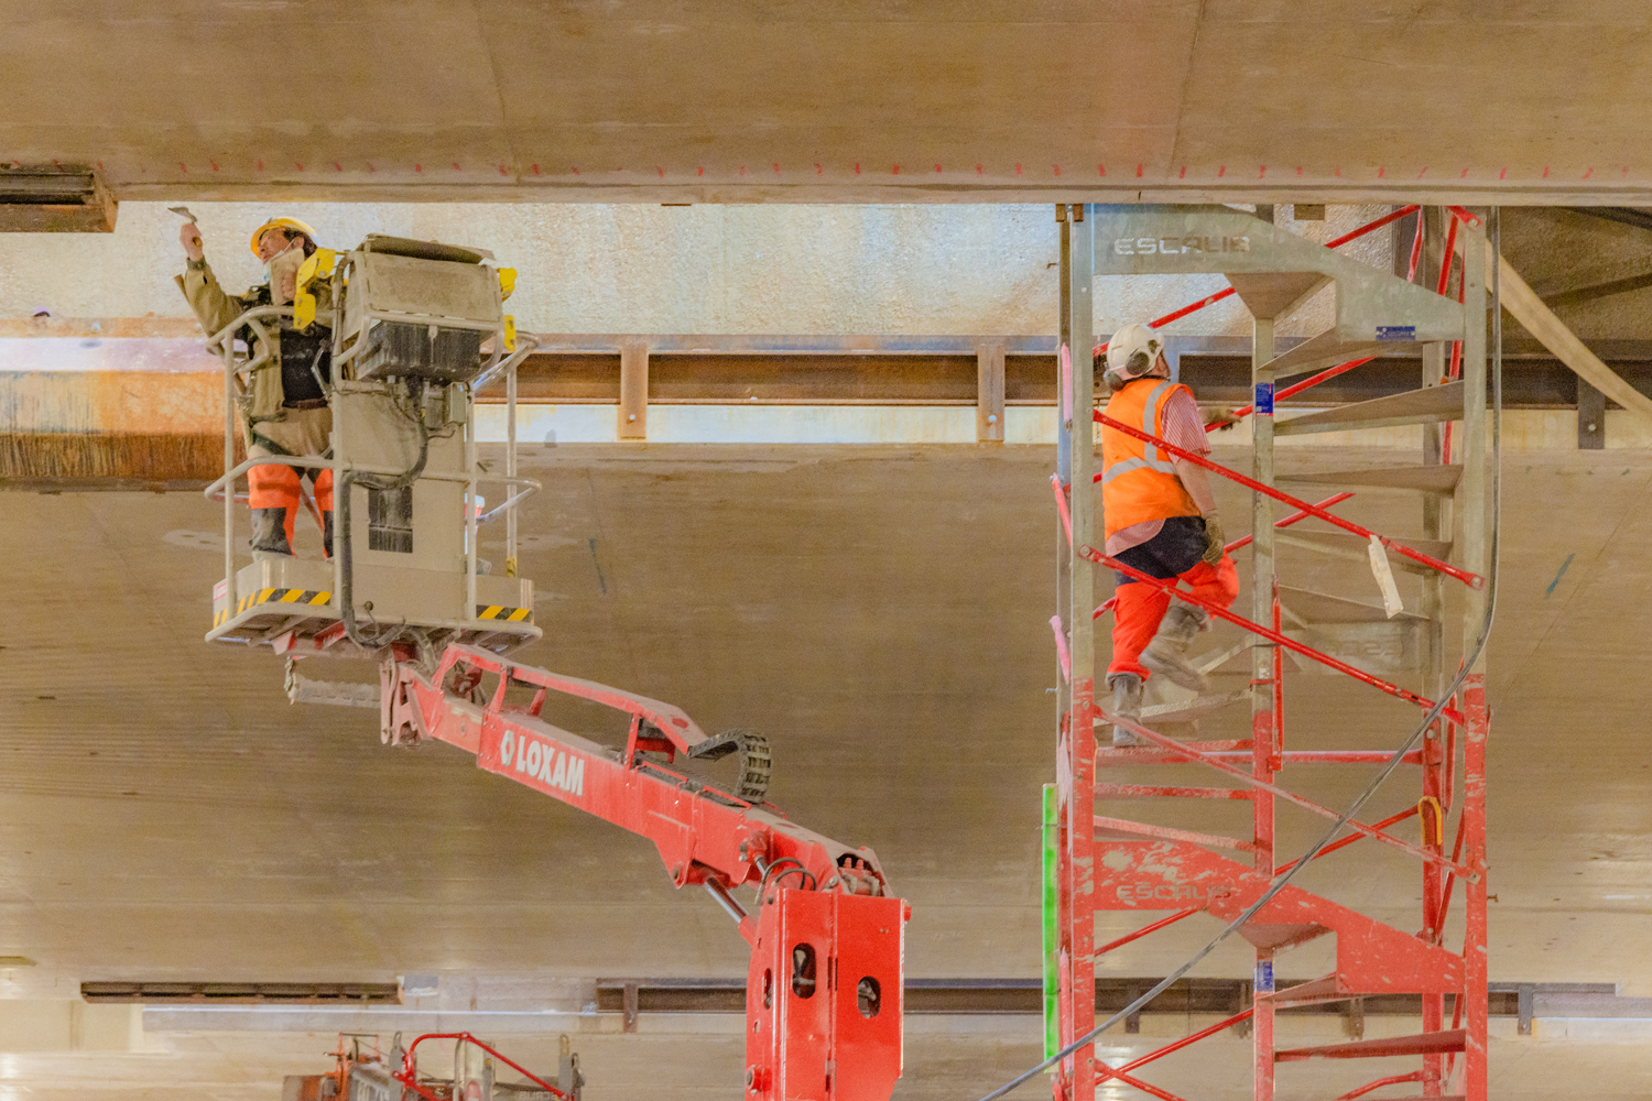
[[[383,664],[385,741],[446,741],[489,773],[641,834],[677,886],[704,885],[738,919],[752,943],[747,1098],[887,1101],[902,1066],[909,908],[871,848],[666,768],[679,753],[729,751],[669,703],[464,645],[449,645],[428,675],[411,659],[396,652]],[[497,682],[479,703],[487,677]],[[532,700],[507,702],[512,687]],[[624,751],[542,720],[548,692],[629,713]],[[758,890],[755,914],[729,895],[747,883]]]

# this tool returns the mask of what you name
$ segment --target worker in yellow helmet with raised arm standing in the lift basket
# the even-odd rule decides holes
[[[316,253],[314,229],[297,218],[271,218],[253,231],[251,241],[253,254],[264,264],[264,284],[230,295],[206,266],[200,228],[193,221],[185,224],[178,239],[188,266],[177,276],[177,284],[208,333],[221,330],[254,305],[291,305],[299,266]],[[332,330],[319,319],[329,317],[332,287],[325,279],[316,279],[309,292],[317,299],[317,320],[299,330],[291,317],[282,317],[279,333],[274,333],[274,355],[253,370],[246,393],[238,398],[248,457],[327,456],[330,451],[332,409],[327,408],[325,380],[332,368]],[[236,335],[254,343],[251,328]],[[256,358],[261,348],[251,352]],[[281,464],[256,465],[246,472],[254,555],[292,553],[302,477],[311,479],[322,513],[322,553],[332,556],[332,470]]]

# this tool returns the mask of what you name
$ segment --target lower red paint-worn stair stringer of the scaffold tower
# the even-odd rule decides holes
[[[1097,910],[1203,908],[1232,921],[1267,891],[1270,878],[1236,860],[1178,840],[1097,842]],[[1262,947],[1336,936],[1338,985],[1361,995],[1462,990],[1462,957],[1356,910],[1285,885],[1241,929]]]

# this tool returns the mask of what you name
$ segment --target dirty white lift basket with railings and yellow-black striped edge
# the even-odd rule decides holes
[[[268,361],[281,319],[314,315],[306,287],[327,269],[330,452],[236,464],[249,371]],[[225,360],[225,474],[205,490],[223,502],[225,573],[208,642],[382,657],[393,644],[439,654],[453,642],[504,654],[542,636],[534,583],[515,576],[515,508],[539,484],[515,475],[515,366],[535,342],[519,340],[504,314],[514,281],[482,249],[373,234],[344,254],[319,249],[299,272],[296,307],[251,309],[208,340]],[[474,398],[496,380],[507,388],[502,475],[476,459]],[[330,560],[254,553],[238,563],[233,485],[259,464],[334,472]],[[486,513],[484,484],[504,497]],[[496,571],[477,558],[477,530],[499,518]]]

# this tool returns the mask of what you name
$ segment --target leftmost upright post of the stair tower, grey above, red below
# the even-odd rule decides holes
[[[1095,469],[1095,368],[1090,281],[1095,271],[1094,220],[1082,206],[1067,218],[1067,347],[1072,381],[1067,393],[1069,474],[1072,545],[1094,545],[1095,497],[1090,482]],[[1061,784],[1061,870],[1062,870],[1062,1047],[1095,1027],[1095,566],[1069,555],[1070,589],[1061,609],[1067,621],[1072,650],[1072,708],[1062,736],[1057,782]],[[1062,1066],[1062,1088],[1069,1101],[1095,1098],[1095,1045],[1085,1045]]]

